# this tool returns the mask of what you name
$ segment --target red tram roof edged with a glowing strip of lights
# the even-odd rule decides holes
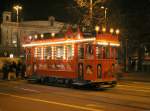
[[[60,36],[50,37],[47,39],[34,39],[30,43],[23,44],[23,47],[35,47],[35,46],[46,46],[46,45],[63,45],[63,44],[75,44],[75,43],[88,43],[93,42],[100,45],[112,45],[120,46],[118,37],[112,34],[99,34],[96,37],[74,35],[67,37],[66,35],[62,38]]]

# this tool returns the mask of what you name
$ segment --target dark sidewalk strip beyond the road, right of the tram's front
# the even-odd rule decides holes
[[[149,72],[122,73],[122,76],[119,77],[119,80],[150,82],[150,73]]]

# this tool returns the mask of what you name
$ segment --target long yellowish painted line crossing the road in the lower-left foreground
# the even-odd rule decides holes
[[[36,99],[36,98],[25,97],[25,96],[17,96],[17,95],[13,95],[9,93],[0,93],[0,94],[5,95],[5,96],[11,96],[14,98],[19,98],[19,99],[25,99],[25,100],[35,101],[35,102],[43,102],[43,103],[54,104],[54,105],[65,106],[69,108],[75,108],[75,109],[81,109],[81,110],[87,110],[87,111],[103,111],[100,109],[87,108],[84,106],[78,106],[78,105],[73,105],[73,104],[66,104],[66,103],[60,103],[60,102],[55,102],[55,101],[47,101],[47,100]]]

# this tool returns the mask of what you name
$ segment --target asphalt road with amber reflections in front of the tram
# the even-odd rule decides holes
[[[150,111],[150,83],[119,82],[105,90],[0,81],[0,111]]]

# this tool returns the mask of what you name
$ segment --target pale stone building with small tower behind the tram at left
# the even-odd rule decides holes
[[[58,33],[66,26],[65,23],[55,21],[49,17],[47,21],[12,22],[11,12],[3,13],[1,23],[1,56],[8,54],[22,54],[22,44],[29,36],[42,33]],[[20,52],[20,53],[18,53]]]

